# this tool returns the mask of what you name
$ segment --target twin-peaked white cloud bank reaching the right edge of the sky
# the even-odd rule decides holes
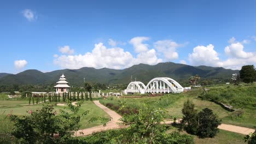
[[[253,52],[245,52],[241,42],[233,37],[229,40],[230,45],[224,51],[229,58],[220,60],[218,53],[212,44],[208,46],[196,46],[193,53],[189,53],[189,61],[192,65],[208,65],[212,67],[224,67],[228,69],[241,69],[242,65],[256,64],[256,55]]]

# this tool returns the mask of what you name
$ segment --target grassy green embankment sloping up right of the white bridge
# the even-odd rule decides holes
[[[256,126],[256,86],[216,86],[211,87],[207,94],[202,97],[202,90],[188,91],[179,94],[167,94],[160,97],[143,97],[143,98],[109,98],[100,100],[104,105],[122,113],[118,110],[121,104],[129,105],[129,107],[139,107],[141,104],[146,103],[156,109],[165,109],[169,115],[168,118],[182,118],[183,104],[187,99],[190,99],[195,104],[195,108],[200,111],[206,107],[213,110],[219,118],[223,119],[223,123],[240,125],[243,127],[253,128]],[[230,114],[229,111],[223,109],[222,106],[213,103],[214,99],[220,103],[230,104],[239,109],[243,107],[243,114],[240,117]],[[113,106],[112,106],[113,105]]]

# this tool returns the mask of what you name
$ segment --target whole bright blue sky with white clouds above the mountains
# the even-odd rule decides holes
[[[256,1],[1,1],[0,73],[256,64]]]

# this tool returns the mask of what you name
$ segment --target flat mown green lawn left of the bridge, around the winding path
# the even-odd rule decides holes
[[[3,101],[0,101],[0,103],[3,103]],[[18,101],[15,101],[15,103],[18,103]],[[9,101],[9,104],[15,104],[14,101]],[[22,103],[22,101],[20,101]],[[9,121],[7,118],[8,113],[12,112],[13,115],[28,115],[28,110],[35,111],[37,109],[41,109],[43,107],[43,104],[38,105],[16,105],[16,106],[3,106],[0,107],[0,133],[3,133],[4,131],[10,131],[13,127],[13,124]],[[58,113],[60,109],[64,109],[65,106],[54,106],[55,111]],[[97,125],[101,125],[101,121],[94,121],[89,123],[89,119],[96,116],[106,117],[109,118],[109,115],[105,113],[100,107],[96,106],[92,101],[84,101],[84,104],[81,106],[81,109],[79,113],[84,112],[85,110],[90,110],[89,114],[85,117],[83,117],[80,121],[80,128],[90,128]]]

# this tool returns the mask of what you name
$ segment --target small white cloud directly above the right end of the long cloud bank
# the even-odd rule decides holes
[[[130,44],[135,48],[135,52],[146,52],[148,51],[148,44],[143,44],[143,41],[149,40],[148,37],[135,37],[130,40]]]

